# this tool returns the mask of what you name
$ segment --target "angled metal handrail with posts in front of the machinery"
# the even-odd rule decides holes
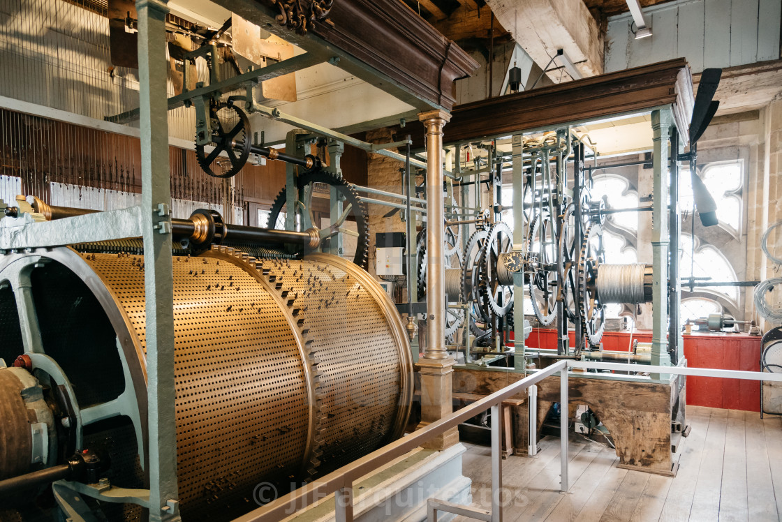
[[[563,359],[557,363],[547,366],[543,370],[537,370],[534,374],[524,377],[522,380],[492,393],[486,395],[483,399],[473,402],[465,408],[459,409],[451,415],[437,420],[418,431],[400,438],[396,442],[371,452],[369,455],[356,460],[339,468],[325,477],[321,477],[310,484],[296,489],[265,506],[247,513],[243,517],[235,519],[234,522],[271,522],[282,520],[294,511],[305,509],[314,502],[324,499],[332,493],[335,494],[335,518],[337,522],[348,522],[353,520],[353,481],[369,474],[378,467],[391,462],[397,457],[403,456],[407,452],[418,448],[425,442],[446,431],[457,427],[463,421],[475,417],[478,413],[491,409],[493,422],[491,423],[491,461],[492,461],[492,509],[490,514],[486,509],[475,509],[469,506],[457,506],[450,502],[435,500],[429,502],[429,513],[434,511],[449,511],[450,513],[468,514],[472,513],[478,520],[491,520],[492,522],[501,522],[502,504],[498,498],[502,488],[502,434],[500,405],[505,399],[517,395],[519,392],[534,387],[537,382],[546,377],[559,373],[560,376],[560,411],[569,411],[569,389],[568,389],[568,371],[570,368],[593,369],[593,370],[614,370],[614,371],[643,371],[644,373],[662,374],[662,375],[689,375],[692,377],[719,377],[728,379],[743,379],[751,381],[775,381],[782,382],[782,374],[773,374],[769,372],[751,372],[740,370],[715,370],[711,368],[694,368],[690,366],[648,366],[627,363],[602,363],[579,361],[574,359]],[[563,371],[564,370],[564,371]],[[565,413],[565,418],[568,413]],[[561,480],[560,489],[562,492],[569,490],[568,477],[568,422],[560,422],[560,461],[561,461]],[[292,511],[293,509],[293,511]],[[472,516],[469,515],[468,516]]]

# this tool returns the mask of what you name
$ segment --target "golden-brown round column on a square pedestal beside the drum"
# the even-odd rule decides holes
[[[445,253],[443,199],[443,126],[450,114],[441,110],[421,113],[426,130],[426,350],[418,359],[421,375],[421,424],[425,427],[450,415],[452,359],[445,347]],[[456,428],[433,439],[425,447],[446,449],[459,442]]]

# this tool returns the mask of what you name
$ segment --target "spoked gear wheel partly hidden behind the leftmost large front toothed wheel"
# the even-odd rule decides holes
[[[468,306],[469,327],[475,336],[491,330],[489,309],[485,306],[481,293],[483,248],[488,238],[488,231],[479,230],[472,233],[467,241],[464,264],[461,266],[461,301]]]

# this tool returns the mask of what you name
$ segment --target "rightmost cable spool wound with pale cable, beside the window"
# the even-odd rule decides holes
[[[651,265],[602,264],[597,268],[597,295],[603,303],[651,302]]]

